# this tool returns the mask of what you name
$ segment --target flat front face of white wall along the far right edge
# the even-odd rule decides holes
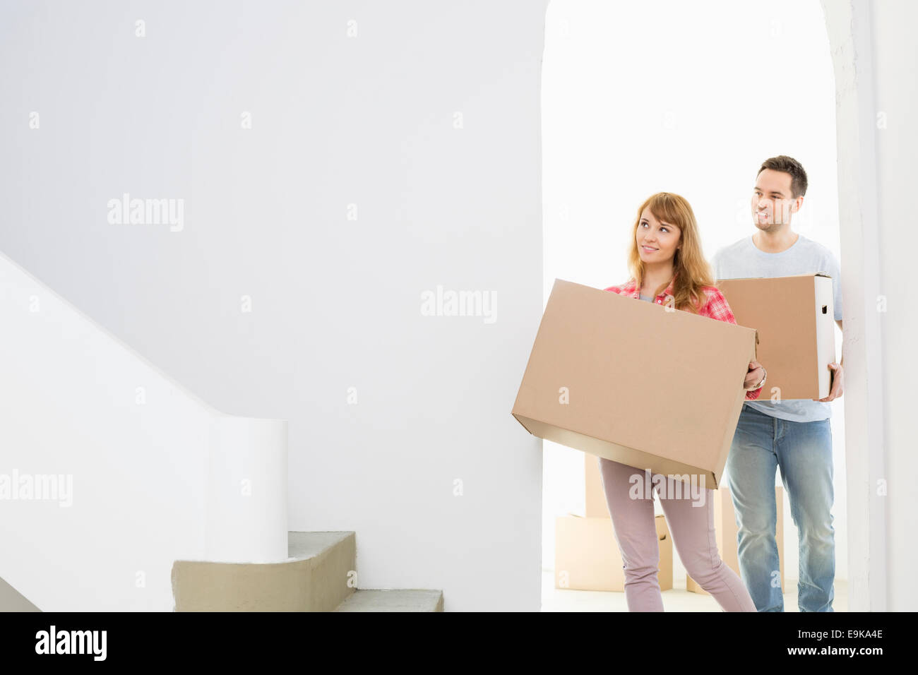
[[[914,611],[918,606],[918,542],[914,532],[913,477],[918,456],[912,425],[914,387],[908,357],[918,332],[912,294],[918,231],[914,222],[914,182],[918,174],[918,48],[912,28],[918,6],[907,0],[871,5],[876,73],[877,113],[885,126],[876,135],[880,254],[880,292],[887,311],[880,314],[883,344],[883,425],[888,501],[886,506],[889,609]],[[878,118],[879,122],[879,118]],[[871,448],[879,452],[879,448]]]

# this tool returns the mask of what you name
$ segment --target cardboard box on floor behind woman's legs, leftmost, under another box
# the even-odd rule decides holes
[[[673,587],[673,542],[662,515],[654,519],[660,549],[660,591]],[[621,552],[611,518],[558,516],[554,525],[554,588],[624,591]]]

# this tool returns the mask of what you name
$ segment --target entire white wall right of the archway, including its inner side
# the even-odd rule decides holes
[[[843,248],[854,276],[845,333],[860,348],[846,375],[850,456],[851,609],[908,611],[918,602],[912,536],[912,432],[908,361],[918,329],[910,299],[918,234],[912,226],[918,6],[823,0],[838,85],[838,176]],[[847,358],[846,358],[847,361]]]

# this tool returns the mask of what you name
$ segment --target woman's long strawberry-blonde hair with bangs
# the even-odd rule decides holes
[[[634,220],[632,229],[628,269],[637,281],[638,288],[644,286],[644,261],[641,260],[641,254],[637,249],[637,228],[641,224],[641,214],[644,213],[644,208],[650,208],[655,219],[671,223],[681,232],[680,246],[673,257],[673,276],[676,279],[673,285],[674,304],[676,309],[697,314],[708,301],[703,287],[713,286],[714,279],[711,264],[701,253],[701,239],[695,213],[685,197],[671,192],[658,192],[651,195],[637,209],[637,219]],[[668,285],[667,281],[661,287],[656,288],[653,297],[666,290]]]

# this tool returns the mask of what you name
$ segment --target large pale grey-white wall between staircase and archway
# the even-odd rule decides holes
[[[545,6],[0,8],[0,250],[219,409],[289,420],[289,527],[355,531],[358,586],[447,610],[539,608],[541,442],[510,409]],[[110,224],[126,192],[184,227]],[[423,316],[438,285],[497,321]]]

